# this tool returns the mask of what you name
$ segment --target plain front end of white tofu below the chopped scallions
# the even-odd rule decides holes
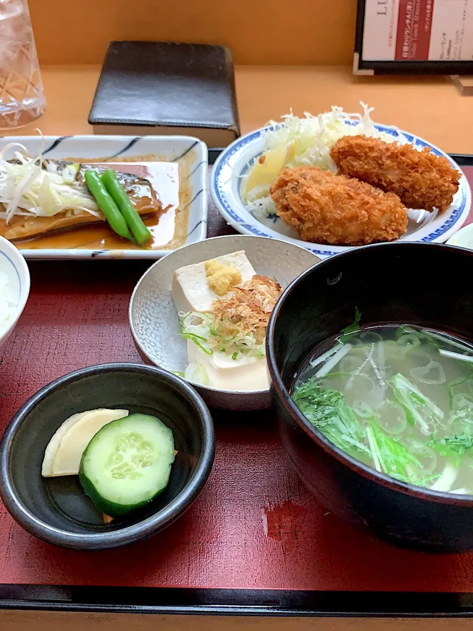
[[[266,357],[248,358],[243,355],[241,359],[234,360],[221,351],[207,355],[190,339],[187,340],[187,355],[189,363],[197,362],[206,371],[208,386],[239,392],[269,388]]]

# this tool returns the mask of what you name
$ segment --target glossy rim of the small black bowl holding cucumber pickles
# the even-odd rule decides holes
[[[132,526],[125,526],[109,533],[71,533],[67,530],[50,526],[47,522],[35,517],[23,504],[21,497],[16,493],[11,484],[9,475],[9,452],[11,441],[18,427],[26,422],[26,416],[40,401],[49,394],[67,383],[73,383],[93,374],[103,372],[141,372],[159,377],[161,381],[168,382],[177,388],[189,403],[194,406],[202,424],[202,452],[197,461],[196,470],[190,477],[185,487],[169,504],[158,510],[155,514]],[[151,534],[165,528],[189,508],[190,504],[201,492],[202,487],[210,475],[215,456],[215,433],[211,413],[197,392],[183,379],[166,370],[155,366],[146,366],[137,363],[104,363],[89,366],[69,372],[58,377],[33,394],[11,418],[3,437],[0,441],[0,497],[11,516],[30,534],[38,538],[67,548],[76,550],[104,550],[124,546],[137,540],[151,536]]]

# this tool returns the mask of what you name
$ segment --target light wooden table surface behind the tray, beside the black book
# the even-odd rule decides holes
[[[91,134],[87,122],[98,66],[45,66],[47,111],[15,134]],[[354,77],[341,66],[237,66],[242,133],[269,119],[304,111],[318,114],[339,105],[359,112],[374,107],[373,120],[412,132],[447,153],[473,153],[473,98],[460,97],[448,77]]]

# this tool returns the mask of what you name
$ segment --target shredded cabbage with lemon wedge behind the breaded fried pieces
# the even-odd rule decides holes
[[[304,112],[305,118],[292,113],[282,117],[283,122],[269,121],[264,130],[264,152],[295,143],[293,158],[284,164],[284,168],[303,166],[320,167],[337,172],[337,167],[330,158],[330,149],[343,136],[364,134],[371,138],[380,138],[387,143],[395,141],[405,144],[407,138],[378,131],[371,120],[373,107],[368,108],[361,102],[363,114],[347,114],[342,107],[332,106],[330,112],[313,116]],[[248,170],[248,177],[252,168]],[[247,208],[255,218],[260,219],[276,213],[276,206],[269,196],[268,186],[255,186],[248,191]]]

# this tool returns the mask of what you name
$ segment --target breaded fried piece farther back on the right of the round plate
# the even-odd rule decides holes
[[[443,211],[458,191],[461,174],[447,158],[424,147],[344,136],[330,150],[340,174],[395,193],[407,208]]]

